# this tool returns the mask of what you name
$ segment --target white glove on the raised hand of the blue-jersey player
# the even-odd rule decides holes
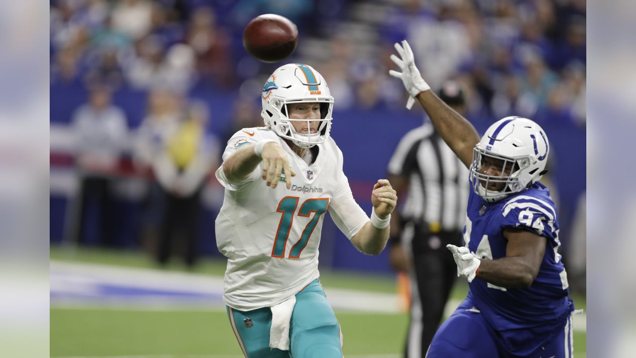
[[[408,42],[403,40],[402,46],[396,42],[395,47],[401,59],[397,58],[397,56],[393,54],[391,55],[391,60],[395,62],[402,72],[400,73],[391,69],[389,70],[389,75],[397,77],[404,82],[406,91],[408,91],[411,95],[408,97],[408,101],[406,101],[406,108],[410,110],[415,102],[415,97],[417,97],[420,92],[431,89],[431,86],[424,81],[424,78],[420,75],[420,70],[418,70],[417,66],[415,66],[415,57],[413,57],[413,51],[408,45]]]

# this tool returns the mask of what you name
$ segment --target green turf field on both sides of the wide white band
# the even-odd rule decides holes
[[[141,254],[121,252],[61,250],[52,247],[55,260],[95,262],[150,268],[153,264]],[[197,269],[209,275],[222,275],[225,264],[209,261]],[[170,269],[181,269],[175,265]],[[394,292],[390,276],[323,273],[329,287]],[[456,285],[453,298],[466,295],[466,285]],[[577,308],[584,308],[583,297],[574,297]],[[137,310],[134,308],[79,308],[52,306],[50,316],[50,354],[52,357],[241,357],[239,345],[223,310]],[[361,314],[336,311],[345,338],[348,357],[400,357],[406,333],[406,314]],[[575,317],[576,319],[576,317]],[[585,332],[575,331],[576,357],[585,357]]]

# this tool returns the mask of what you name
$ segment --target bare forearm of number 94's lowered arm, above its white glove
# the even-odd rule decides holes
[[[476,278],[506,289],[525,289],[532,285],[538,272],[523,257],[483,259]]]

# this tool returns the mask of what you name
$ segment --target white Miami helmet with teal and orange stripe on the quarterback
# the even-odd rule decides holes
[[[331,130],[333,97],[327,82],[318,71],[306,64],[286,64],[272,73],[263,86],[263,111],[265,125],[282,138],[291,140],[301,148],[311,148],[324,143]],[[320,103],[321,120],[315,133],[297,132],[292,122],[307,121],[287,117],[287,104]]]

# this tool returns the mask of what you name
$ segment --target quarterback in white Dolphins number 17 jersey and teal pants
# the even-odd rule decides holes
[[[314,68],[280,67],[261,97],[265,127],[235,133],[216,171],[225,187],[216,238],[228,258],[228,317],[246,357],[342,357],[340,327],[317,281],[324,213],[361,252],[377,255],[396,193],[378,180],[371,218],[354,201],[329,137],[333,97]]]

